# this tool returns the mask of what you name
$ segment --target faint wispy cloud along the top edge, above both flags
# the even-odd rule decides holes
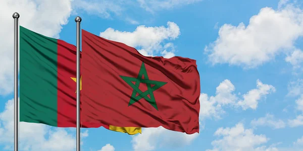
[[[174,7],[179,7],[182,5],[188,5],[202,0],[154,0],[154,1],[125,1],[125,0],[71,0],[73,1],[73,8],[79,11],[85,11],[87,14],[96,15],[106,19],[113,19],[115,16],[120,19],[133,24],[138,25],[139,22],[130,18],[127,11],[143,8],[149,13],[154,13],[154,11],[159,11],[162,9],[172,9]],[[73,11],[74,14],[77,14]]]

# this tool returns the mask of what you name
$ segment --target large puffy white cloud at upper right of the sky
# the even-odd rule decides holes
[[[302,35],[303,11],[281,1],[278,10],[262,8],[258,15],[250,18],[247,26],[224,24],[217,40],[205,51],[213,64],[250,68],[274,59],[280,52],[294,50],[294,42]]]

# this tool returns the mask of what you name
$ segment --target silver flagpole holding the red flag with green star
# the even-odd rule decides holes
[[[76,17],[77,23],[77,151],[80,151],[80,22],[81,17]]]

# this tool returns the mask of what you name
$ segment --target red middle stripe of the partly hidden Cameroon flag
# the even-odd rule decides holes
[[[76,50],[76,46],[58,40],[58,127],[76,127],[76,82],[71,79],[76,78]],[[81,125],[82,127],[104,126],[99,123],[81,123]],[[109,129],[108,125],[104,127]]]

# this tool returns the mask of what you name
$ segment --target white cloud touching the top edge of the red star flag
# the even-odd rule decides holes
[[[174,40],[180,35],[180,29],[173,22],[167,23],[167,28],[138,26],[133,32],[122,32],[113,28],[108,28],[100,33],[101,37],[109,40],[125,43],[131,47],[142,48],[140,53],[153,56],[154,52],[164,51],[165,46],[162,46],[164,40]]]

